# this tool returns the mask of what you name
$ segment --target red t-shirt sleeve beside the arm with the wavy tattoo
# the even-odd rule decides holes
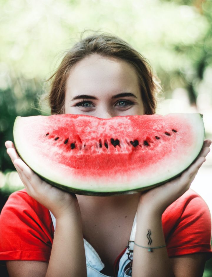
[[[211,257],[210,211],[192,189],[165,210],[162,222],[169,257],[201,252]]]

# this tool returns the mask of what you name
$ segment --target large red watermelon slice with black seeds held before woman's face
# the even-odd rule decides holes
[[[204,141],[198,113],[166,116],[17,117],[14,142],[42,179],[69,192],[118,195],[150,189],[178,176]]]

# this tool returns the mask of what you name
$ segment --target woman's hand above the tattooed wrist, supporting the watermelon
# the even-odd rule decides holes
[[[147,207],[148,210],[162,215],[165,209],[183,195],[191,186],[199,168],[206,161],[206,156],[210,152],[211,140],[204,141],[202,150],[196,161],[188,167],[179,177],[167,182],[159,187],[155,187],[141,193],[139,206]]]

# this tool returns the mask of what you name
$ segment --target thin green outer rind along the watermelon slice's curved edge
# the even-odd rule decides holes
[[[169,182],[170,180],[173,180],[176,177],[180,176],[196,160],[196,158],[198,157],[199,153],[201,152],[201,148],[202,148],[202,145],[203,145],[203,142],[204,142],[204,135],[205,135],[204,124],[203,124],[203,120],[202,120],[202,115],[201,114],[195,114],[195,115],[196,115],[196,119],[195,120],[197,120],[197,118],[199,118],[199,120],[202,122],[202,124],[199,123],[199,125],[200,125],[202,130],[200,130],[200,134],[201,135],[198,136],[199,143],[198,143],[198,149],[196,149],[196,151],[195,151],[196,154],[193,155],[192,160],[189,162],[189,164],[187,164],[185,166],[185,168],[183,170],[178,172],[178,174],[174,174],[173,176],[171,176],[170,178],[168,178],[168,179],[166,179],[164,181],[157,182],[155,184],[147,184],[147,185],[144,185],[143,187],[139,187],[139,184],[136,184],[136,185],[133,184],[132,187],[130,187],[130,185],[129,185],[129,189],[126,189],[126,188],[125,189],[121,189],[119,187],[118,190],[115,189],[116,186],[115,186],[115,184],[113,184],[112,189],[110,189],[108,187],[105,187],[105,190],[103,188],[103,190],[97,191],[96,189],[87,189],[86,186],[85,186],[84,189],[80,189],[80,188],[76,188],[76,187],[72,187],[72,186],[68,187],[68,186],[59,184],[57,182],[54,182],[54,181],[52,181],[50,179],[45,178],[44,176],[42,176],[41,174],[39,174],[39,172],[36,172],[35,170],[34,170],[34,172],[39,177],[41,177],[41,179],[43,179],[44,181],[48,182],[49,184],[52,184],[55,187],[58,187],[59,189],[62,189],[64,191],[67,191],[67,192],[70,192],[70,193],[82,194],[82,195],[90,195],[90,196],[111,196],[111,195],[120,195],[120,194],[132,194],[132,193],[141,192],[141,191],[144,191],[144,190],[148,190],[148,189],[157,187],[159,185],[165,184],[166,182]],[[16,130],[17,120],[18,120],[18,118],[16,118],[16,121],[14,123],[14,133],[15,133],[15,130]],[[15,141],[15,146],[16,146],[16,140],[14,139],[14,141]],[[202,142],[202,144],[201,144],[201,142]],[[16,147],[16,149],[18,149],[18,147]],[[24,157],[21,155],[21,153],[19,151],[18,151],[18,153],[19,153],[20,157],[24,160]],[[75,184],[74,184],[74,186],[75,186]],[[76,184],[76,186],[77,186],[77,184]]]

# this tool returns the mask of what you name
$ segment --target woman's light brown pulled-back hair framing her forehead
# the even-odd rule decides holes
[[[64,113],[65,89],[69,72],[77,62],[92,54],[117,58],[132,65],[138,75],[145,114],[155,113],[155,93],[158,86],[153,80],[148,62],[130,44],[119,37],[108,33],[95,33],[86,38],[81,37],[80,41],[66,52],[58,69],[49,78],[52,81],[48,97],[51,114]]]

